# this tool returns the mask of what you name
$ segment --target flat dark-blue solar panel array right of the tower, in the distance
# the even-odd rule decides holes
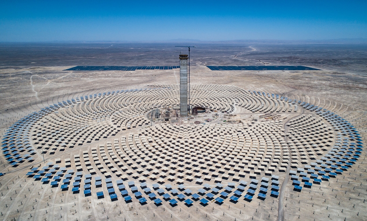
[[[263,71],[263,70],[290,70],[290,71],[302,71],[302,70],[320,70],[312,67],[305,66],[207,66],[212,71]]]

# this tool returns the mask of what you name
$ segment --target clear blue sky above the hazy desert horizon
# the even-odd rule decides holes
[[[0,41],[367,38],[367,1],[0,1]]]

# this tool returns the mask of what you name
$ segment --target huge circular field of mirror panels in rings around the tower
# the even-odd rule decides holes
[[[302,191],[360,155],[345,119],[236,86],[192,85],[190,104],[205,113],[147,117],[177,111],[178,92],[155,85],[64,100],[9,128],[3,155],[14,167],[29,166],[32,182],[70,195],[171,207],[277,199],[284,177]]]

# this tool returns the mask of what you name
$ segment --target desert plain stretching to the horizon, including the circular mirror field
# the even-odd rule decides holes
[[[179,104],[179,69],[65,69],[178,65],[187,48],[116,45],[1,45],[1,219],[367,220],[365,45],[197,43],[206,113],[153,122]]]

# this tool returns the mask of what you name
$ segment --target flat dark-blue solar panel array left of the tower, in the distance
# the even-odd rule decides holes
[[[76,66],[64,71],[135,71],[135,70],[171,70],[180,66]]]

